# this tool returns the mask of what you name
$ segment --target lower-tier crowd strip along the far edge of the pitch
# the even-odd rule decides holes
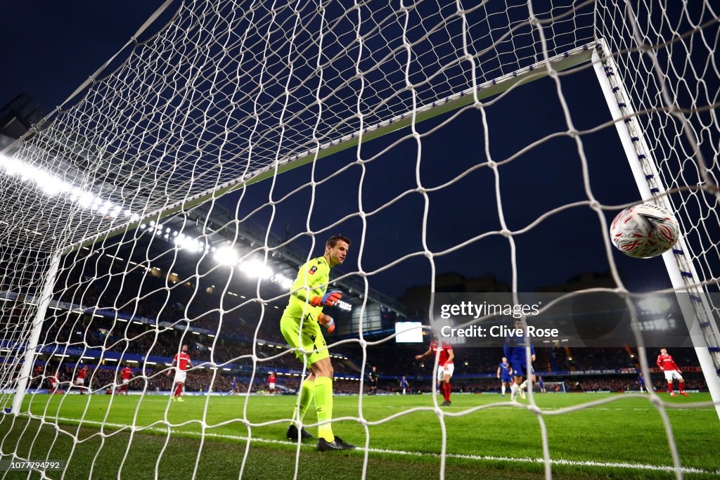
[[[131,344],[132,345],[132,344]],[[176,345],[176,343],[175,343]],[[220,344],[218,344],[220,345]],[[246,355],[252,353],[250,345],[236,344],[232,342],[225,342],[222,348],[229,348],[229,351],[239,351],[235,349],[246,348]],[[400,375],[406,375],[408,381],[410,381],[411,391],[431,391],[431,379],[434,378],[432,375],[433,364],[428,358],[424,361],[415,361],[414,356],[418,353],[422,353],[422,349],[418,350],[415,348],[392,348],[393,345],[388,345],[385,348],[374,348],[368,349],[367,363],[365,373],[369,370],[369,366],[379,366],[380,382],[379,391],[381,392],[393,392],[399,389],[399,377]],[[221,346],[216,347],[218,354]],[[352,348],[344,348],[349,353],[359,353],[356,358],[362,358],[362,352],[353,351]],[[495,356],[497,352],[488,349],[466,349],[458,350],[456,356],[456,371],[452,381],[454,391],[466,391],[466,392],[490,392],[498,391],[500,384],[499,381],[494,377],[494,373],[497,370],[497,363],[495,363]],[[129,350],[130,351],[130,350]],[[608,364],[598,360],[600,358],[613,358],[613,354],[617,352],[613,349],[597,349],[597,350],[576,350],[577,354],[573,358],[573,363],[577,361],[584,370],[599,371],[607,368]],[[268,345],[256,345],[256,355],[258,356],[258,363],[256,369],[256,378],[253,381],[251,391],[261,391],[266,385],[266,371],[274,370],[278,368],[293,368],[298,369],[300,363],[294,358],[292,353],[288,353],[284,356],[277,358],[270,358],[276,356],[281,349],[272,348]],[[170,352],[172,353],[172,352]],[[685,352],[682,349],[675,349],[675,358],[678,358],[678,363],[685,376],[686,388],[688,389],[706,389],[703,381],[701,372],[696,371],[697,361],[693,362],[693,358],[685,358],[689,356],[691,352]],[[230,355],[230,353],[225,353]],[[501,354],[501,353],[500,353]],[[587,355],[588,358],[594,359],[598,363],[590,363],[590,361],[578,361],[577,358],[582,358],[583,355]],[[253,371],[253,362],[251,358],[243,358],[241,361],[236,361],[234,364],[242,364],[246,366],[246,370],[238,373],[233,371],[224,371],[222,368],[197,368],[198,365],[202,365],[204,358],[207,358],[207,352],[198,352],[194,350],[192,358],[196,368],[192,368],[188,373],[188,381],[186,383],[186,389],[189,391],[230,391],[230,380],[233,376],[237,376],[238,379],[236,384],[238,385],[238,391],[248,391],[249,375]],[[69,386],[73,379],[76,377],[79,367],[76,364],[77,359],[68,358],[63,359],[65,363],[58,363],[54,357],[52,361],[46,365],[38,367],[39,370],[35,372],[35,380],[31,386],[49,386],[48,382],[42,383],[44,379],[47,381],[50,376],[58,376],[63,385]],[[633,361],[630,358],[630,361]],[[109,363],[109,362],[108,362]],[[467,363],[467,365],[465,364]],[[652,366],[652,359],[649,362]],[[42,363],[41,363],[42,364]],[[109,363],[104,366],[93,365],[89,362],[91,371],[86,377],[89,379],[92,389],[104,389],[107,386],[112,386],[115,379],[117,378],[117,372],[122,368],[114,363]],[[610,363],[611,365],[613,363]],[[130,384],[132,389],[148,389],[148,390],[168,390],[171,388],[172,378],[166,376],[169,368],[165,365],[156,365],[150,368],[149,365],[145,366],[145,371],[137,363],[127,363],[134,371],[135,380]],[[475,365],[481,365],[481,369],[474,367]],[[639,389],[639,382],[637,379],[637,365],[633,363],[622,363],[623,367],[616,371],[624,371],[623,374],[590,374],[581,373],[575,371],[575,374],[562,374],[554,375],[552,372],[546,369],[536,368],[538,375],[544,375],[544,380],[547,382],[552,381],[564,381],[564,386],[567,391],[633,391]],[[333,359],[333,366],[335,368],[336,376],[342,376],[343,373],[348,374],[359,374],[355,370],[355,366],[359,366],[355,363],[341,361]],[[406,368],[405,371],[400,371],[397,367],[402,366]],[[385,370],[387,368],[387,370]],[[686,369],[687,368],[687,369]],[[486,375],[485,378],[477,378],[479,374]],[[490,374],[490,376],[487,376]],[[657,391],[664,391],[667,384],[662,373],[655,371],[652,373],[651,379],[654,384],[654,389]],[[87,382],[87,381],[86,381]],[[147,383],[147,386],[145,386]],[[212,385],[211,385],[212,383]],[[367,382],[365,382],[367,384]],[[87,383],[86,383],[87,384]],[[279,376],[278,384],[281,387],[281,391],[292,392],[297,388],[297,377],[292,376]],[[336,381],[336,391],[338,393],[358,393],[359,392],[358,381]],[[365,385],[367,389],[367,385]]]

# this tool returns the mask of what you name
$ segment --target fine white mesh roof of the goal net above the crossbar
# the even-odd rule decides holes
[[[556,4],[547,13],[567,13],[570,6]],[[290,29],[270,32],[273,50],[267,57],[258,54],[258,45],[264,42],[264,26],[278,16],[282,19],[278,24],[287,22],[292,17],[289,4],[273,9],[257,4],[243,8],[233,3],[220,9],[202,2],[182,6],[171,24],[148,42],[135,45],[125,63],[96,80],[72,107],[56,112],[14,152],[14,158],[25,165],[59,173],[80,189],[51,197],[51,206],[71,217],[75,227],[68,231],[58,225],[57,230],[80,240],[112,225],[122,225],[134,215],[181,204],[221,185],[271,171],[276,152],[270,145],[278,144],[281,129],[288,145],[279,153],[282,161],[305,153],[307,148],[320,148],[325,142],[332,146],[333,140],[357,132],[358,119],[348,114],[355,104],[353,83],[358,80],[353,66],[356,35],[344,21],[348,10],[332,8],[328,33],[334,42],[326,47],[321,65],[299,62],[296,66],[296,81],[287,96],[284,122],[279,125],[276,119],[283,107],[277,99],[282,98],[284,79],[290,78],[282,52],[293,48],[300,58],[315,55],[317,13],[312,5],[298,7],[303,27],[292,42],[287,37]],[[459,55],[454,44],[460,15],[454,6],[429,9],[423,18],[417,17],[418,8],[410,9],[415,17],[407,34],[415,51],[420,51],[413,61],[422,62],[423,67],[414,69],[411,83],[418,104],[431,105],[466,90],[469,78],[456,60]],[[523,49],[513,48],[513,43],[503,38],[508,27],[516,28],[516,35],[531,35],[523,17],[510,17],[520,6],[495,14],[488,14],[486,8],[485,4],[473,6],[462,11],[462,17],[472,15],[469,30],[473,33],[473,53],[482,55],[482,78],[490,81],[534,63],[538,47],[534,42],[520,55]],[[368,12],[374,22],[366,22],[372,27],[363,32],[362,39],[371,43],[373,50],[363,59],[370,62],[362,73],[367,83],[364,116],[366,125],[375,125],[398,112],[409,112],[410,106],[402,95],[405,78],[396,60],[404,50],[397,40],[402,33],[402,12],[390,6]],[[505,24],[500,15],[505,15],[510,24]],[[490,19],[494,19],[492,24]],[[556,27],[576,38],[585,32],[585,40],[590,40],[590,25],[564,25],[571,20],[578,19],[561,19]],[[242,37],[235,32],[243,32]],[[345,45],[349,35],[352,38]],[[503,40],[498,42],[498,38]],[[552,48],[559,54],[570,47],[570,42],[561,42]],[[260,68],[269,77],[262,88],[256,80]],[[331,75],[326,76],[320,96],[315,96],[312,81],[318,68]],[[261,95],[261,107],[253,107]],[[318,102],[325,104],[325,117],[315,125]],[[256,142],[248,141],[252,130],[258,132]],[[320,145],[308,140],[312,130],[317,131]],[[253,158],[247,165],[238,162],[247,156],[253,143]],[[60,155],[64,166],[57,165],[51,155]],[[71,201],[66,204],[68,198]],[[84,207],[97,201],[95,209],[107,209],[111,218],[101,220],[85,209],[68,209],[77,201]],[[45,242],[38,245],[40,248],[53,249]]]

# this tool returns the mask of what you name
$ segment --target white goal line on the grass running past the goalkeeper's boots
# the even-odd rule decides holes
[[[89,425],[105,425],[107,427],[130,427],[135,431],[154,431],[154,432],[160,432],[160,433],[167,433],[166,428],[161,427],[132,427],[131,425],[123,425],[122,423],[104,423],[104,422],[97,422],[94,420],[83,420],[82,422],[80,420],[74,419],[74,418],[64,418],[64,417],[45,417],[47,420],[58,420],[61,422],[73,422],[73,423],[85,423]],[[196,432],[186,432],[183,430],[170,430],[171,433],[179,433],[182,435],[189,435],[192,437],[201,438],[203,434],[196,433]],[[104,436],[109,436],[107,434],[102,434]],[[225,435],[222,433],[204,433],[204,436],[210,437],[210,438],[225,438],[227,440],[242,440],[247,441],[248,437],[242,437],[239,435]],[[269,443],[269,444],[277,444],[277,445],[294,445],[297,446],[297,442],[290,442],[288,440],[274,440],[271,438],[250,438],[251,442],[258,442],[258,443]],[[303,444],[302,447],[305,447],[306,450],[310,448],[315,448],[312,444]],[[364,448],[357,448],[359,451],[365,450]],[[428,453],[428,452],[409,452],[405,450],[387,450],[384,448],[368,448],[368,452],[370,453],[389,453],[391,455],[398,455],[398,456],[416,456],[416,457],[437,457],[440,458],[439,453]],[[489,456],[489,455],[462,455],[459,453],[446,453],[446,458],[460,458],[464,460],[478,460],[478,461],[504,461],[504,462],[520,462],[520,463],[544,463],[543,458],[516,458],[516,457],[498,457],[498,456]],[[652,470],[652,471],[665,471],[665,472],[674,472],[675,467],[673,466],[665,466],[665,465],[649,465],[647,463],[630,463],[630,462],[598,462],[598,461],[579,461],[579,460],[564,460],[562,458],[555,458],[551,459],[550,463],[552,465],[568,465],[568,466],[593,466],[593,467],[603,467],[603,468],[631,468],[636,470]],[[683,474],[720,474],[720,470],[717,471],[709,471],[704,470],[703,468],[694,468],[694,467],[680,467],[680,471],[683,472]]]

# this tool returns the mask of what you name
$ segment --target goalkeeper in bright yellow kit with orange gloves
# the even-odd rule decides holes
[[[320,325],[335,330],[335,321],[323,313],[323,307],[333,307],[341,299],[339,291],[330,291],[330,268],[343,263],[350,248],[350,239],[341,235],[330,237],[325,243],[325,255],[313,258],[300,267],[297,279],[290,289],[290,299],[280,320],[280,330],[292,348],[301,348],[309,353],[295,352],[301,361],[303,357],[310,368],[310,375],[300,386],[300,405],[293,415],[293,423],[287,429],[287,438],[296,440],[312,438],[304,428],[297,430],[294,422],[301,422],[310,402],[315,400],[318,422],[328,422],[318,427],[318,450],[351,450],[355,445],[343,442],[333,435],[330,420],[333,418],[333,365],[330,363],[328,344],[325,342]]]

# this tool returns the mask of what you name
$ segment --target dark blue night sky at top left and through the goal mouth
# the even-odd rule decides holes
[[[0,103],[21,91],[50,112],[81,84],[99,65],[117,53],[122,45],[152,14],[161,1],[127,0],[123,2],[73,1],[47,3],[42,8],[27,2],[4,6],[0,35],[4,37],[4,74],[0,76]],[[163,19],[150,31],[155,31]],[[22,19],[22,20],[17,20]],[[578,130],[607,122],[610,114],[600,93],[592,69],[563,77],[563,93]],[[554,83],[536,81],[516,89],[486,111],[490,126],[490,155],[499,161],[519,148],[567,126],[557,99]],[[426,132],[446,117],[418,124]],[[361,148],[361,158],[371,158],[408,130],[396,132]],[[456,178],[478,163],[487,161],[480,111],[464,112],[453,122],[423,138],[421,143],[420,181],[433,189]],[[602,204],[620,206],[639,201],[639,194],[614,127],[582,137],[588,155],[590,187]],[[339,168],[356,160],[357,150],[346,150],[320,160],[316,181],[322,181]],[[344,271],[371,272],[409,253],[423,250],[423,211],[425,199],[417,192],[407,194],[395,204],[366,217],[366,232],[361,245],[363,222],[359,212],[359,189],[364,212],[374,212],[403,192],[415,189],[418,145],[412,138],[400,142],[370,163],[365,172],[354,165],[315,190],[315,207],[310,219],[312,230],[336,222],[338,225],[318,236],[318,242],[335,232],[354,239]],[[238,207],[238,217],[282,198],[289,191],[310,181],[312,166],[302,166],[279,176],[276,184],[262,181],[248,188]],[[549,209],[587,199],[582,184],[580,158],[575,142],[561,137],[544,142],[530,153],[500,166],[500,192],[505,220],[510,230],[526,227]],[[228,195],[221,203],[235,211],[240,193]],[[495,194],[495,176],[487,166],[478,168],[449,186],[428,193],[429,208],[426,242],[434,253],[469,240],[482,232],[500,230]],[[310,188],[306,187],[277,205],[271,232],[280,237],[305,231]],[[608,223],[619,209],[606,212]],[[268,225],[271,209],[258,210],[249,218],[256,225]],[[351,215],[350,218],[341,221]],[[518,289],[531,291],[539,286],[560,284],[585,271],[608,271],[608,259],[602,242],[600,223],[589,207],[576,207],[546,219],[530,232],[516,236]],[[307,238],[293,243],[296,248],[310,245]],[[359,251],[362,248],[362,255]],[[321,248],[316,246],[318,255]],[[649,291],[670,286],[660,258],[635,260],[613,252],[626,286]],[[436,273],[458,272],[467,277],[493,275],[510,283],[510,246],[500,235],[477,240],[454,253],[435,258]],[[428,284],[430,262],[415,256],[370,277],[374,288],[391,296],[400,296],[412,285]]]

